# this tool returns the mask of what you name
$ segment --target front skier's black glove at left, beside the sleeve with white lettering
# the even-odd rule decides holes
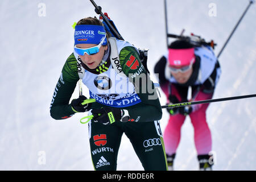
[[[79,96],[77,99],[71,101],[71,106],[74,111],[77,113],[83,113],[90,110],[92,103],[86,102],[87,98],[85,96]]]

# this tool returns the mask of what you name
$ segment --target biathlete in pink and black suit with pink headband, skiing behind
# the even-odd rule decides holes
[[[167,104],[209,100],[221,74],[220,64],[210,46],[193,46],[185,40],[176,40],[168,46],[168,53],[156,63],[160,88],[166,94]],[[191,118],[200,170],[212,169],[212,137],[207,124],[206,110],[209,104],[168,108],[170,118],[164,131],[164,144],[169,170],[173,169],[177,147],[181,137],[181,126],[187,115]]]

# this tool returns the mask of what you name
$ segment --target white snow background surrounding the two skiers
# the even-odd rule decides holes
[[[123,38],[148,48],[151,78],[156,61],[166,52],[163,1],[95,0],[114,20]],[[41,4],[43,3],[43,4]],[[247,0],[182,0],[168,2],[169,33],[191,32],[213,39],[216,55],[242,15]],[[209,4],[216,16],[209,16]],[[46,16],[40,16],[42,6]],[[256,5],[237,28],[220,56],[222,75],[214,98],[255,93]],[[72,52],[72,24],[97,16],[89,1],[1,0],[1,170],[93,170],[85,114],[55,121],[49,115],[53,90]],[[171,40],[170,40],[171,41]],[[88,96],[86,88],[84,93]],[[162,93],[162,92],[161,92]],[[76,88],[72,98],[78,97]],[[161,104],[166,104],[162,93]],[[256,169],[256,98],[215,102],[207,110],[213,139],[214,170]],[[162,130],[168,114],[163,111]],[[197,170],[193,127],[187,118],[174,164],[176,170]],[[42,157],[43,160],[42,163]],[[123,135],[118,170],[143,170],[129,139]]]

